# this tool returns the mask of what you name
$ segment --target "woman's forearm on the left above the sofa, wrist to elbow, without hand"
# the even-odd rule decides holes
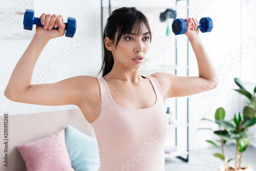
[[[28,48],[17,62],[8,85],[5,95],[14,96],[24,92],[30,85],[36,61],[49,40],[34,35]]]

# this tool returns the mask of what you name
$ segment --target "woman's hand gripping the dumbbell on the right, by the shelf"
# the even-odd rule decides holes
[[[185,35],[188,37],[188,39],[198,36],[199,30],[197,27],[199,26],[199,21],[196,18],[185,18],[184,20],[187,24]]]

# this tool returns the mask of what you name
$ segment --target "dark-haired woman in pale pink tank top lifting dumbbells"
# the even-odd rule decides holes
[[[61,15],[41,15],[30,45],[10,77],[5,96],[40,105],[77,105],[95,131],[100,170],[164,170],[170,97],[188,96],[217,87],[216,71],[199,37],[195,18],[186,18],[188,37],[196,54],[198,77],[169,73],[141,76],[139,68],[150,50],[151,30],[136,8],[112,12],[103,33],[101,78],[76,76],[55,83],[31,85],[36,61],[47,42],[62,36]],[[58,30],[52,29],[59,27]]]

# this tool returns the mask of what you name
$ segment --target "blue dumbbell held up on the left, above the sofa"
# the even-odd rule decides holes
[[[23,28],[25,30],[32,30],[34,24],[37,26],[44,26],[41,24],[41,18],[35,17],[35,11],[27,9],[24,14]],[[74,37],[76,32],[76,18],[68,17],[67,23],[64,23],[64,24],[66,25],[65,30],[67,30],[65,36]],[[57,28],[53,27],[53,29],[58,29],[58,27]]]

